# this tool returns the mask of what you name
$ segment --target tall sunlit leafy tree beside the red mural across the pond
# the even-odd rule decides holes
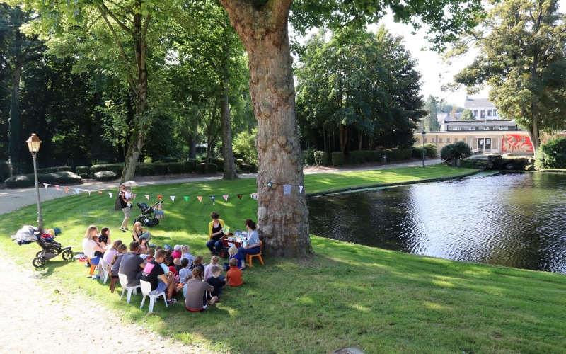
[[[447,55],[459,57],[470,44],[480,52],[454,80],[467,86],[468,93],[491,86],[490,101],[526,128],[537,149],[540,130],[551,129],[566,115],[565,16],[557,0],[490,5],[481,27],[455,42]]]

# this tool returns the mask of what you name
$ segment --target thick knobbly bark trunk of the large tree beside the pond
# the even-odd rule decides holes
[[[248,52],[250,94],[258,120],[258,232],[274,256],[309,256],[295,89],[287,20],[290,0],[255,7],[250,0],[221,0]],[[271,187],[268,186],[271,183]],[[283,185],[292,185],[283,194]]]

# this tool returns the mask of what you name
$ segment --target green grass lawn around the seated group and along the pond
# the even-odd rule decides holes
[[[469,171],[431,166],[311,175],[305,185],[307,193],[315,193]],[[145,200],[143,194],[152,196],[149,202],[156,201],[154,195],[166,196],[166,218],[151,229],[153,242],[189,244],[193,254],[202,256],[209,253],[204,246],[209,213],[215,210],[230,227],[242,229],[244,219],[255,219],[257,201],[249,196],[254,192],[250,179],[134,191],[137,201]],[[224,194],[230,195],[228,202]],[[176,195],[175,202],[168,195]],[[185,202],[183,195],[204,198]],[[209,195],[217,195],[216,205]],[[131,240],[130,234],[118,232],[122,213],[112,206],[108,193],[81,194],[45,202],[42,211],[46,227],[62,228],[57,241],[81,251],[88,224],[107,225],[112,239]],[[132,216],[137,211],[134,207]],[[37,245],[17,246],[8,235],[35,224],[35,206],[3,217],[3,253],[31,267]],[[354,346],[364,353],[566,353],[566,275],[413,256],[317,236],[311,241],[312,259],[265,257],[265,266],[255,261],[244,270],[243,286],[226,289],[217,305],[197,314],[183,304],[166,309],[161,302],[156,314],[147,316],[147,304],[139,309],[141,295],[132,296],[132,304],[120,301],[120,285],[110,294],[108,285],[86,278],[83,263],[54,258],[37,273],[57,287],[52,297],[61,301],[80,292],[123,320],[219,352],[328,353]]]

